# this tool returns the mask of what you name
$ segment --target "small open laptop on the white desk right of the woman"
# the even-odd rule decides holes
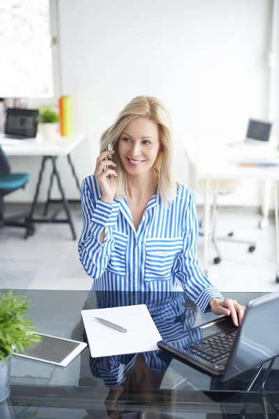
[[[233,147],[239,145],[269,145],[271,127],[271,122],[249,119],[246,139],[244,141],[229,142],[227,145]]]

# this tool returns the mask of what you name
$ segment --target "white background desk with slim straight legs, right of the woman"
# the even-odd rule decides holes
[[[188,156],[190,175],[195,179],[203,179],[204,191],[204,272],[208,274],[208,245],[211,196],[210,186],[213,179],[258,179],[272,181],[274,185],[275,219],[276,219],[276,255],[279,265],[279,224],[278,224],[278,192],[279,166],[273,167],[243,167],[239,163],[257,163],[275,160],[278,153],[266,146],[243,145],[229,147],[226,145],[211,147],[211,149],[189,149],[187,142],[183,148]],[[279,271],[276,272],[276,282],[279,282]]]

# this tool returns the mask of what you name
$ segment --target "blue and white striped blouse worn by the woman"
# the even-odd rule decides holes
[[[86,177],[78,250],[85,272],[93,278],[91,289],[185,291],[202,311],[209,310],[212,297],[223,298],[197,260],[197,215],[189,188],[182,186],[169,208],[158,193],[151,196],[137,230],[127,200],[105,203],[101,196],[96,177]]]

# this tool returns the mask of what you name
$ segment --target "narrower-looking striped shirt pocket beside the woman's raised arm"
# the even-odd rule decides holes
[[[115,240],[115,247],[112,253],[110,253],[107,270],[124,277],[126,275],[126,248],[128,235],[120,233],[119,231],[114,231],[113,236]]]

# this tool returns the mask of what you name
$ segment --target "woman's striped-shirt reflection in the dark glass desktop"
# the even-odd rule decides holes
[[[162,339],[178,347],[189,344],[191,335],[188,331],[197,325],[197,308],[186,300],[183,293],[90,293],[84,309],[119,307],[131,304],[146,304]],[[194,340],[201,336],[193,337]],[[84,331],[84,341],[86,333]],[[112,343],[113,344],[113,343]],[[145,411],[144,417],[171,418],[160,413],[156,403],[163,402],[172,409],[176,402],[176,378],[168,377],[172,382],[169,388],[161,388],[172,356],[163,351],[123,354],[103,358],[91,358],[91,374],[102,378],[109,393],[105,400],[110,418],[141,418],[140,412],[131,412],[131,404],[152,406]],[[128,413],[128,411],[129,413]],[[132,408],[133,411],[133,408]],[[130,416],[130,415],[134,416]],[[146,416],[152,415],[152,416]],[[128,416],[127,416],[128,415]]]

